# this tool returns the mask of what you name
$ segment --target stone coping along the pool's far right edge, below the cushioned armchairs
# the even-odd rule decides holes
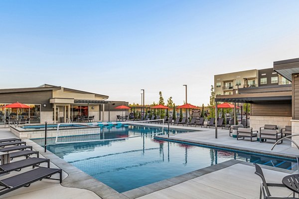
[[[165,140],[165,141],[183,142],[186,144],[188,144],[188,143],[196,144],[196,145],[202,145],[202,146],[207,146],[207,147],[214,147],[214,148],[218,148],[218,149],[230,149],[230,150],[235,150],[235,151],[241,151],[241,152],[244,151],[244,152],[248,152],[248,153],[257,153],[257,154],[262,154],[262,155],[276,156],[276,157],[289,158],[289,159],[297,158],[297,155],[288,154],[288,153],[266,151],[266,150],[239,147],[239,146],[231,146],[231,145],[225,145],[225,144],[219,144],[219,143],[197,141],[197,140],[192,140],[192,139],[184,139],[184,138],[177,138],[177,137],[165,137],[165,136],[159,136],[159,135],[155,135],[153,138],[159,139],[159,140]]]

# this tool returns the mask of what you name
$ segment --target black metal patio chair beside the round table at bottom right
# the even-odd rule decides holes
[[[264,199],[296,199],[296,198],[294,198],[295,194],[293,194],[293,198],[292,197],[288,198],[288,197],[272,196],[270,194],[269,187],[284,187],[284,188],[286,188],[286,186],[284,184],[279,184],[279,183],[267,183],[262,168],[256,163],[253,163],[253,164],[255,165],[255,168],[256,168],[255,174],[260,176],[260,178],[262,179],[261,187],[260,187],[260,199],[262,199],[262,196]]]

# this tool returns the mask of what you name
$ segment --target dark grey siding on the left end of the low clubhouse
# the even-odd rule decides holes
[[[53,111],[52,104],[49,103],[50,98],[52,98],[52,90],[0,93],[0,103],[14,103],[18,101],[23,104],[41,104],[41,111]],[[43,107],[43,104],[46,104],[46,107]]]

